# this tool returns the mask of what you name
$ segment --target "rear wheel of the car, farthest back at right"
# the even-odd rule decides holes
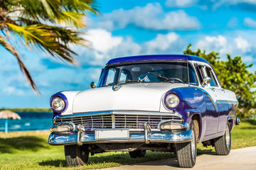
[[[221,137],[214,139],[215,152],[218,155],[228,155],[231,149],[231,133],[230,128],[227,125],[225,128],[225,134]]]

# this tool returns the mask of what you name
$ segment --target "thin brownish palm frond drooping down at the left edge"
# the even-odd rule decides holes
[[[30,72],[26,68],[25,64],[22,62],[21,58],[18,56],[18,52],[16,52],[13,45],[11,45],[9,42],[6,42],[5,38],[0,35],[0,45],[4,47],[7,51],[11,52],[12,55],[16,57],[16,60],[18,61],[18,65],[21,69],[21,72],[25,74],[26,79],[28,80],[28,83],[31,85],[33,91],[36,94],[40,94],[40,91],[38,90],[35,82],[33,81]]]

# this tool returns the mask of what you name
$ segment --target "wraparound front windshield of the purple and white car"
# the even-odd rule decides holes
[[[196,85],[196,74],[191,64],[186,62],[163,63],[136,63],[114,65],[105,67],[101,77],[100,86],[112,86],[114,84],[130,83],[180,83]]]

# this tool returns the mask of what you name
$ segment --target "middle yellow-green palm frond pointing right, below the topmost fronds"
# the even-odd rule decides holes
[[[70,45],[84,45],[85,40],[81,38],[77,30],[62,28],[57,26],[47,26],[36,24],[32,26],[16,26],[7,23],[12,33],[18,34],[31,47],[36,46],[41,50],[46,50],[53,57],[66,60],[75,64],[76,60],[72,55],[76,53],[71,50]]]

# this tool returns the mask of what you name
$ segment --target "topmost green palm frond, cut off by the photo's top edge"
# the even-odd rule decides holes
[[[88,4],[86,4],[88,3]],[[20,18],[36,21],[38,23],[66,23],[76,28],[83,28],[82,18],[85,13],[97,14],[92,7],[92,0],[17,0],[16,11],[21,13]],[[15,11],[15,10],[14,10]]]

